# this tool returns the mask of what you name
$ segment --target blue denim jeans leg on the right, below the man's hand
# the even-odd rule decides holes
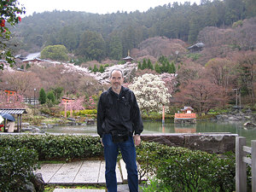
[[[128,185],[130,192],[138,191],[138,176],[137,176],[137,162],[136,162],[136,148],[134,146],[133,137],[125,143],[118,143],[119,148],[125,161],[126,170],[128,173]]]

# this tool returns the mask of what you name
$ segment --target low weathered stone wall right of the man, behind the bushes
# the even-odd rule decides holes
[[[142,134],[141,138],[147,142],[157,142],[168,146],[201,150],[214,154],[224,154],[228,151],[236,152],[237,136],[237,134],[231,133],[154,133]]]

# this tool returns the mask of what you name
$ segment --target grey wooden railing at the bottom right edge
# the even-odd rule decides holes
[[[251,158],[247,157],[251,154]],[[246,146],[245,137],[236,137],[236,192],[247,191],[247,164],[252,167],[252,191],[256,191],[256,140],[251,148]]]

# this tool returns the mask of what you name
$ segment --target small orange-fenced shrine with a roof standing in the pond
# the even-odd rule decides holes
[[[196,114],[191,107],[184,107],[181,109],[183,113],[175,113],[174,123],[196,123]]]

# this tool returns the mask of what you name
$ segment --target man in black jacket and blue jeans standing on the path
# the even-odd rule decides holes
[[[117,191],[115,166],[120,149],[126,164],[129,189],[137,192],[135,145],[141,143],[143,120],[134,93],[122,86],[124,74],[120,69],[111,71],[110,82],[111,87],[102,93],[97,108],[97,133],[104,147],[106,184],[108,192]]]

